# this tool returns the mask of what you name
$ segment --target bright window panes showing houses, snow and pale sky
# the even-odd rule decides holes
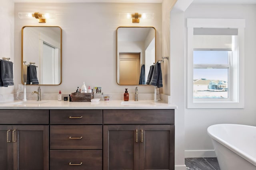
[[[193,53],[193,98],[228,98],[231,51]]]

